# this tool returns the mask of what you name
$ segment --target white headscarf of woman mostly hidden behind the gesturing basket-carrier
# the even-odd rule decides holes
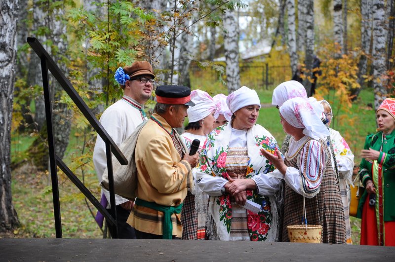
[[[306,89],[298,81],[286,81],[277,85],[273,90],[272,105],[281,107],[285,101],[294,98],[307,98]]]

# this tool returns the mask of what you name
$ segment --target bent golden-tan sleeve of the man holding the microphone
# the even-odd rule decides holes
[[[160,193],[175,193],[194,183],[191,165],[185,160],[174,165],[169,145],[161,137],[149,141],[144,162],[152,186]]]

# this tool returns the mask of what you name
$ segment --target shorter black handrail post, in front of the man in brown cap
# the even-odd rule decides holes
[[[111,236],[118,238],[118,219],[117,219],[117,206],[115,205],[115,193],[114,193],[114,175],[113,175],[113,160],[111,158],[111,144],[106,141],[106,156],[107,156],[107,172],[108,182],[110,189],[110,208],[111,215],[115,220],[115,225],[110,225]]]

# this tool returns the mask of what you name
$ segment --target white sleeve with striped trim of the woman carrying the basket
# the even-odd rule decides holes
[[[325,169],[325,152],[321,144],[312,140],[302,149],[298,168],[288,167],[285,182],[297,193],[308,198],[316,196]]]

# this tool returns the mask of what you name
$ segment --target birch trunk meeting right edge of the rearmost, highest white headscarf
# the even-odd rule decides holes
[[[314,1],[313,0],[305,0],[306,2],[306,15],[305,15],[305,28],[306,28],[306,56],[305,56],[305,65],[306,65],[306,78],[303,80],[303,86],[306,88],[306,92],[308,96],[312,95],[312,82],[309,79],[312,79],[312,71],[313,71],[313,54],[314,54]]]

